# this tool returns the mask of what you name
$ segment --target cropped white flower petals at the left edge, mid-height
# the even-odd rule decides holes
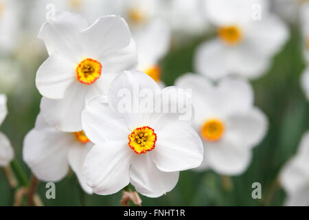
[[[6,96],[0,94],[0,125],[8,114],[6,107]],[[0,132],[0,166],[8,166],[14,157],[14,151],[10,140],[3,133]]]

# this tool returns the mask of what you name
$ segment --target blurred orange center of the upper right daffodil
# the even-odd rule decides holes
[[[237,45],[242,41],[242,30],[236,25],[218,28],[218,36],[227,45]]]

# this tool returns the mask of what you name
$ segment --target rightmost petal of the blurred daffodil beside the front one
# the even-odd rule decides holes
[[[226,121],[226,131],[237,135],[247,146],[256,146],[261,142],[268,129],[266,115],[253,108],[247,113],[231,115]]]

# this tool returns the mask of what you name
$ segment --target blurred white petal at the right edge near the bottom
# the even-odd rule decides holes
[[[309,183],[308,158],[293,157],[284,166],[279,177],[282,187],[293,195],[297,190],[308,186]]]

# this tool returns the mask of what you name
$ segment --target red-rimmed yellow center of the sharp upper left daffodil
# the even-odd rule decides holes
[[[101,71],[102,65],[100,62],[87,58],[76,67],[76,76],[80,83],[90,85],[100,78]]]

